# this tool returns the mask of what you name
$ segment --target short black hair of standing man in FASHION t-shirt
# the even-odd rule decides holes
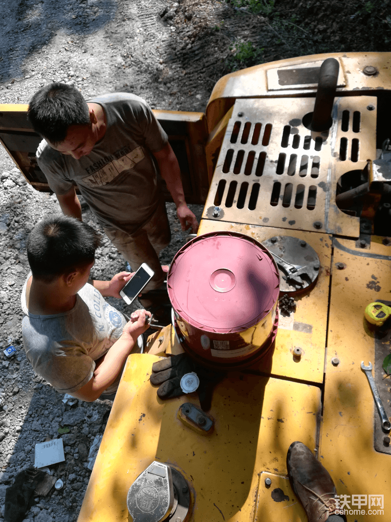
[[[71,125],[90,125],[87,102],[70,85],[54,83],[42,87],[31,98],[27,111],[34,131],[53,145],[65,140]]]

